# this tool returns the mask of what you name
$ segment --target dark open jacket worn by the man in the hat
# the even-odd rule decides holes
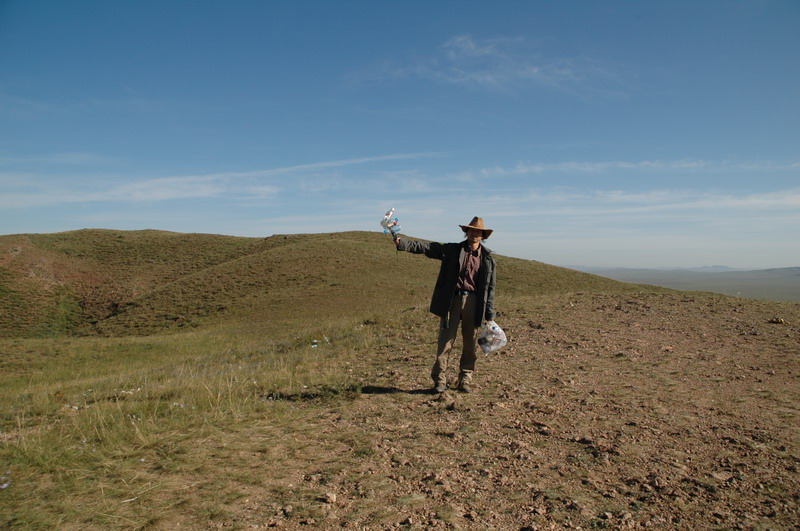
[[[466,256],[464,242],[426,243],[401,239],[397,249],[414,254],[424,254],[428,258],[442,261],[442,265],[439,268],[439,278],[436,279],[436,287],[433,288],[430,310],[434,315],[447,319],[450,312],[450,303],[456,291],[456,282],[458,282],[461,264]],[[483,247],[481,267],[478,270],[477,279],[476,295],[478,300],[475,305],[475,326],[480,326],[483,320],[494,320],[495,278],[496,266],[494,258],[492,258],[492,251]]]

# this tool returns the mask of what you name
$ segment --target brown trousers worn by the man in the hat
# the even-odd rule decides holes
[[[439,328],[439,346],[436,349],[436,361],[431,369],[431,378],[434,384],[447,383],[447,365],[450,352],[458,334],[458,325],[461,324],[461,361],[459,363],[458,381],[469,382],[475,370],[476,338],[475,332],[475,304],[477,296],[474,293],[453,295],[450,303],[450,318],[442,318]]]

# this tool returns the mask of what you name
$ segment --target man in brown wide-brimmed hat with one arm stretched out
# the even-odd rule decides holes
[[[447,365],[453,349],[458,325],[461,323],[463,346],[458,373],[458,390],[472,391],[472,373],[475,371],[476,331],[483,321],[494,320],[494,285],[496,267],[492,252],[483,246],[483,240],[492,234],[484,227],[483,219],[472,218],[469,225],[459,225],[466,240],[461,243],[424,243],[395,239],[398,251],[424,254],[441,260],[439,277],[431,298],[431,313],[441,318],[436,361],[431,369],[433,390],[447,390]]]

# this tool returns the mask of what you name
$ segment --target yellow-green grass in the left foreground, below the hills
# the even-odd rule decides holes
[[[216,329],[3,341],[0,455],[11,486],[0,523],[146,527],[189,503],[181,485],[198,482],[204,499],[191,505],[208,514],[197,518],[219,516],[231,496],[221,485],[260,481],[215,465],[226,455],[219,434],[252,422],[302,426],[308,413],[291,399],[352,388],[340,367],[370,348],[369,334],[347,326],[269,339]],[[205,473],[221,477],[204,487]]]

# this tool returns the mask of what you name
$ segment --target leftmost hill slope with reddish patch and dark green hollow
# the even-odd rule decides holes
[[[247,239],[81,230],[0,237],[0,336],[86,334],[125,304],[235,259]]]

